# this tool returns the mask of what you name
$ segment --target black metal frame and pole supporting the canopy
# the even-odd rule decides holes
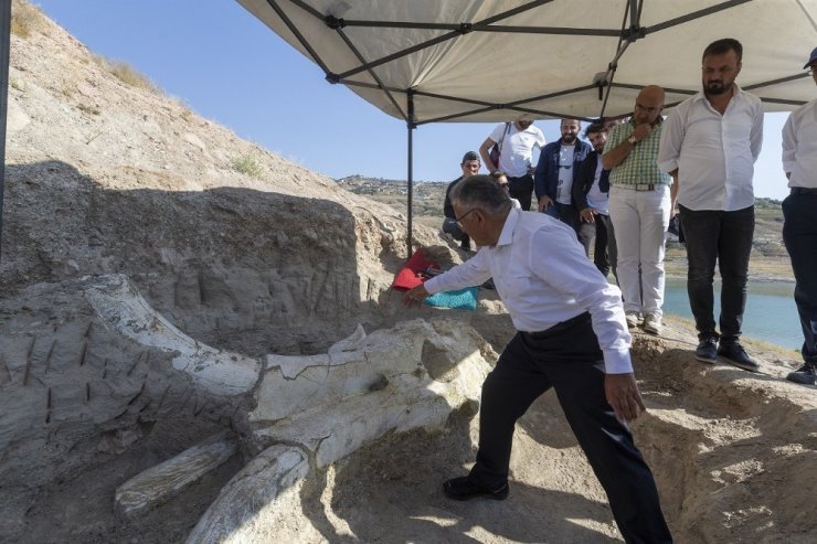
[[[614,115],[606,115],[608,100],[611,93],[614,90],[630,90],[637,93],[640,88],[647,85],[649,82],[641,83],[616,83],[615,75],[618,70],[619,62],[624,57],[628,47],[639,40],[645,40],[648,36],[656,35],[658,33],[675,29],[680,25],[689,24],[693,21],[699,21],[703,18],[711,17],[715,13],[721,13],[728,10],[732,10],[743,4],[751,3],[752,0],[728,0],[722,1],[712,6],[708,6],[702,9],[692,10],[682,13],[677,17],[669,18],[661,22],[650,25],[641,24],[641,14],[645,8],[646,0],[625,0],[624,11],[622,13],[623,19],[618,29],[611,28],[567,28],[567,26],[541,26],[541,25],[520,25],[520,24],[502,24],[503,21],[517,18],[520,14],[531,13],[534,10],[540,10],[548,4],[555,3],[556,0],[534,0],[526,2],[521,6],[517,6],[490,17],[481,18],[475,21],[466,22],[427,22],[427,21],[411,21],[411,20],[364,20],[364,19],[347,19],[338,17],[338,11],[349,9],[349,3],[338,2],[330,6],[327,10],[321,11],[316,7],[307,3],[305,0],[264,0],[263,2],[255,0],[238,0],[240,3],[255,14],[258,19],[270,25],[273,30],[282,36],[283,29],[286,29],[290,34],[291,39],[288,40],[290,43],[301,50],[308,57],[310,57],[325,73],[327,82],[330,84],[341,84],[348,86],[352,90],[374,90],[382,94],[381,102],[388,103],[391,115],[403,119],[406,122],[407,129],[407,253],[412,253],[412,231],[413,231],[413,214],[412,214],[412,202],[413,202],[413,138],[412,131],[421,125],[431,122],[442,121],[456,121],[456,120],[482,120],[479,116],[490,113],[501,111],[506,118],[513,118],[518,116],[529,116],[533,118],[576,118],[576,119],[588,119],[588,111],[584,111],[584,115],[577,115],[571,110],[560,109],[544,109],[537,107],[537,103],[549,102],[558,97],[570,97],[580,94],[586,94],[587,90],[597,92],[597,99],[601,103],[598,108],[595,110],[597,115],[594,117],[598,118],[615,118],[622,117],[628,111],[616,111]],[[264,14],[264,7],[261,4],[268,6],[269,9],[276,14],[282,28],[270,24],[268,15]],[[320,3],[320,2],[312,2]],[[655,3],[655,2],[652,2]],[[288,6],[288,10],[284,9],[284,6]],[[304,21],[298,24],[294,20],[291,8],[296,8],[306,14],[307,19],[311,19],[314,24],[305,24]],[[336,13],[336,14],[333,14]],[[305,26],[309,26],[311,34],[310,36],[304,31]],[[336,43],[344,44],[348,52],[351,53],[353,58],[357,60],[357,65],[347,67],[342,71],[335,71],[330,63],[323,58],[323,56],[314,46],[312,41],[315,39],[316,28],[322,26],[326,33],[336,34],[338,40]],[[441,32],[439,35],[422,40],[417,43],[412,43],[403,49],[394,51],[390,54],[379,56],[376,58],[367,58],[361,51],[360,44],[356,43],[354,40],[349,35],[349,29],[373,29],[382,31],[412,31],[412,30],[431,30]],[[382,68],[391,63],[397,63],[412,54],[418,53],[428,47],[438,46],[446,42],[454,42],[463,40],[467,35],[477,33],[491,33],[496,35],[510,35],[510,34],[533,34],[533,35],[565,35],[573,38],[616,38],[618,45],[613,58],[607,63],[606,72],[598,72],[594,75],[593,81],[586,85],[575,86],[571,88],[558,89],[551,93],[537,94],[523,98],[516,98],[509,102],[489,102],[484,99],[477,99],[465,95],[450,95],[441,94],[429,90],[424,90],[422,85],[412,85],[407,87],[397,87],[389,85],[384,78],[375,72],[375,68]],[[365,75],[371,81],[361,81],[360,76]],[[792,99],[787,97],[775,96],[773,88],[781,88],[781,85],[804,79],[807,77],[805,73],[792,73],[783,77],[774,77],[771,79],[756,82],[751,85],[743,87],[745,90],[753,90],[755,93],[760,90],[768,90],[770,94],[761,96],[761,99],[768,107],[770,105],[782,109],[793,109],[796,106],[805,104],[806,99]],[[687,96],[697,93],[697,89],[685,89],[685,88],[667,88],[665,87],[668,96],[675,96],[676,99],[668,102],[667,107],[670,108],[685,99]],[[356,92],[357,92],[356,90]],[[633,95],[635,96],[635,94]],[[384,98],[384,99],[383,99]],[[439,115],[435,117],[417,118],[415,102],[418,98],[431,98],[435,100],[443,100],[452,105],[458,105],[458,107],[466,106],[466,109],[459,111],[449,113],[446,115]],[[368,98],[367,98],[368,99]],[[370,100],[372,102],[372,100]],[[632,103],[630,103],[632,104]],[[383,109],[383,106],[380,106]]]

